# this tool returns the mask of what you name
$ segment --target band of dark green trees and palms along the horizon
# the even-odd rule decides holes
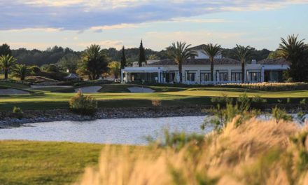
[[[120,76],[120,69],[131,66],[133,61],[138,61],[139,67],[142,62],[147,60],[163,60],[173,58],[179,65],[180,82],[182,64],[189,57],[196,55],[190,50],[191,45],[183,42],[172,43],[160,52],[146,49],[141,41],[139,48],[101,48],[98,45],[87,47],[82,52],[76,52],[71,48],[62,48],[54,46],[41,50],[27,50],[21,48],[10,50],[10,46],[3,44],[0,46],[0,64],[4,77],[8,78],[8,72],[11,71],[15,76],[22,80],[25,76],[45,75],[48,77],[63,78],[66,70],[77,73],[80,76],[87,76],[94,80],[102,74],[111,74],[115,78]],[[281,39],[279,49],[272,52],[267,49],[256,50],[251,46],[236,45],[232,49],[224,49],[218,44],[202,45],[204,53],[209,56],[211,62],[211,81],[214,81],[214,57],[223,55],[239,60],[242,66],[242,81],[244,83],[244,67],[249,60],[263,60],[267,57],[284,57],[291,65],[286,76],[293,81],[308,81],[307,79],[307,44],[303,40],[299,41],[297,36],[288,36],[288,39]],[[305,69],[304,69],[305,68]],[[59,73],[62,75],[59,76]]]

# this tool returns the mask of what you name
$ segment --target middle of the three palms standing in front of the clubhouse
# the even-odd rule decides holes
[[[217,43],[215,45],[209,43],[203,48],[203,53],[209,57],[209,61],[211,62],[211,81],[214,81],[214,57],[221,54],[221,52],[221,45],[218,45]]]

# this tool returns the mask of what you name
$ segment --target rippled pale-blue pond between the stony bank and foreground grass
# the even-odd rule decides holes
[[[1,129],[0,139],[144,145],[148,144],[147,136],[161,137],[166,128],[188,133],[209,132],[211,128],[200,129],[204,118],[188,116],[31,123],[20,128]]]

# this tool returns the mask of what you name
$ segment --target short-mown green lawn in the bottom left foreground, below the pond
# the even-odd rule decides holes
[[[71,184],[85,167],[97,165],[103,148],[102,144],[0,141],[0,184]]]

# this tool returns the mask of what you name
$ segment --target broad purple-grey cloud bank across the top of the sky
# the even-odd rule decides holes
[[[290,4],[308,4],[308,1],[2,0],[0,1],[0,30],[52,28],[102,31],[136,27],[146,22],[185,21],[186,18],[193,16],[225,11],[272,10]]]

